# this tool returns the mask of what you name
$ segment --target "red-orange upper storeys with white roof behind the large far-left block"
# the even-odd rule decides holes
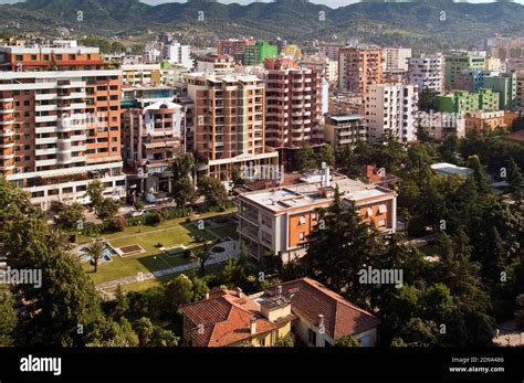
[[[97,47],[78,46],[76,41],[50,44],[0,46],[0,71],[95,71],[106,67]]]

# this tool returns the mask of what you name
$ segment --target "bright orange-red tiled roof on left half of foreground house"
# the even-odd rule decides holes
[[[219,290],[209,299],[185,306],[184,316],[195,326],[188,331],[196,347],[227,347],[251,337],[251,320],[256,319],[256,333],[279,328],[263,318],[251,299],[239,298],[235,292]]]

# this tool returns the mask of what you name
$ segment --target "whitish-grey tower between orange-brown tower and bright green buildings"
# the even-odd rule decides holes
[[[440,94],[444,86],[444,57],[441,54],[411,57],[408,64],[410,85],[416,85],[419,93],[430,89]]]

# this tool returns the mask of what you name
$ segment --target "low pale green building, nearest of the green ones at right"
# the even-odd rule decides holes
[[[473,110],[499,110],[500,96],[492,89],[480,89],[478,93],[453,92],[437,96],[437,111],[467,115]]]

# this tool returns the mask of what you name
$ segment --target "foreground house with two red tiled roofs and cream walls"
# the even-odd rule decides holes
[[[374,347],[380,323],[310,278],[251,296],[240,289],[213,291],[182,313],[186,347],[273,347],[286,336],[307,347],[332,347],[346,336]]]

